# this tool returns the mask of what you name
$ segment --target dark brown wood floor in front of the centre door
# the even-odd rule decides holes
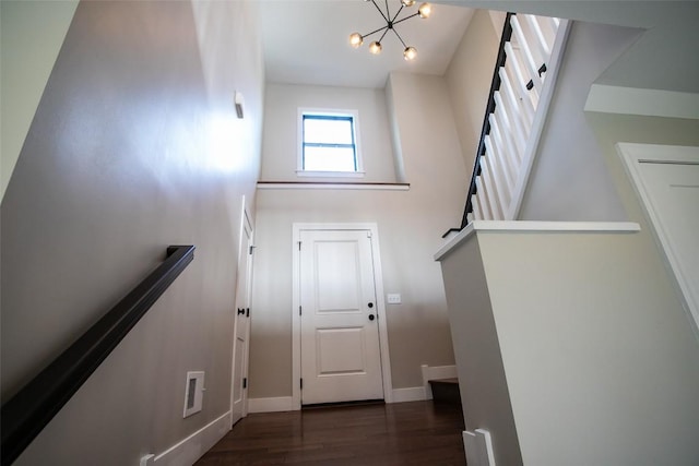
[[[433,402],[252,414],[197,462],[465,465],[461,407]]]

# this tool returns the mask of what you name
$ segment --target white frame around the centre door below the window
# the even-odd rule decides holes
[[[371,234],[371,260],[374,265],[374,285],[376,289],[376,311],[379,321],[379,347],[381,358],[381,379],[383,399],[393,403],[393,384],[391,382],[391,361],[389,357],[389,334],[383,299],[383,272],[381,270],[381,252],[379,248],[379,230],[376,223],[294,223],[292,242],[292,408],[301,408],[301,318],[300,307],[300,250],[301,231],[305,230],[368,230]]]

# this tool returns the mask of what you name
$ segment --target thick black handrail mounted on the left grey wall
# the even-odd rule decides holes
[[[167,248],[155,271],[2,405],[3,466],[20,456],[193,259],[193,246]]]

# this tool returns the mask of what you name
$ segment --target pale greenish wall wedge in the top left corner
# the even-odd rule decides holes
[[[78,0],[0,2],[0,200],[76,7]]]

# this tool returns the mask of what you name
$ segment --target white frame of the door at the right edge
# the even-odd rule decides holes
[[[683,307],[694,324],[694,331],[699,338],[699,302],[697,302],[689,289],[689,277],[685,276],[679,266],[680,259],[674,252],[668,235],[665,232],[660,215],[653,205],[650,191],[640,170],[642,163],[657,164],[696,164],[699,147],[661,145],[661,144],[637,144],[617,143],[617,153],[624,162],[624,168],[631,180],[631,184],[640,200],[642,211],[649,220],[650,229],[655,242],[660,247],[661,255],[665,260],[665,265],[670,275],[674,278],[675,287],[678,291]],[[672,279],[671,278],[671,279]]]

